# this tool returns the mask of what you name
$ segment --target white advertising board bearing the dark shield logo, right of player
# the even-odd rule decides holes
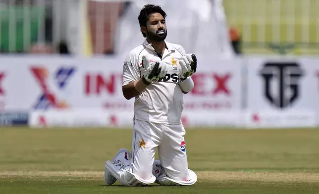
[[[319,58],[311,57],[247,57],[247,110],[318,116],[318,64]]]

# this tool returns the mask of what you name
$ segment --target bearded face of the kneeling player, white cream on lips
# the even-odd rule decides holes
[[[152,41],[163,41],[166,38],[167,30],[165,19],[160,13],[152,13],[146,22],[146,37]]]

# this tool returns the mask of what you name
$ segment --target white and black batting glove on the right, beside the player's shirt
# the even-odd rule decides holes
[[[178,62],[181,66],[181,71],[179,75],[181,79],[186,79],[187,77],[193,75],[196,72],[197,59],[195,54],[185,54]]]

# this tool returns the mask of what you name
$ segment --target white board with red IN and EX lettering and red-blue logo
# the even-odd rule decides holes
[[[0,63],[4,110],[133,110],[134,98],[122,95],[123,66],[117,58],[0,57]],[[239,109],[239,63],[200,58],[195,88],[184,96],[185,109]]]

